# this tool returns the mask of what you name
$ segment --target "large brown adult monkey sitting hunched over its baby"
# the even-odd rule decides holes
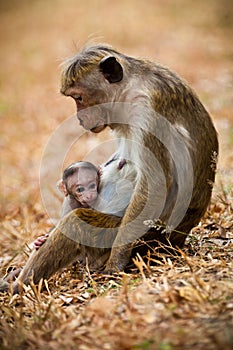
[[[216,131],[196,94],[175,73],[106,45],[87,46],[65,63],[61,93],[75,100],[84,128],[113,130],[119,159],[130,160],[136,173],[135,189],[122,219],[92,209],[65,217],[29,258],[14,292],[19,282],[49,278],[83,254],[96,268],[106,263],[105,271],[123,270],[141,236],[182,247],[211,197]],[[166,233],[146,232],[145,219],[162,220]],[[7,289],[3,281],[0,290]]]

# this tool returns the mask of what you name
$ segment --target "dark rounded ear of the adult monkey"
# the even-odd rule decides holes
[[[100,71],[110,84],[118,83],[123,78],[123,68],[116,57],[105,57],[100,61]]]

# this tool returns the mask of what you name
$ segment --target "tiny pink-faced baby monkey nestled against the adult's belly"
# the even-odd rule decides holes
[[[76,208],[90,208],[94,205],[99,191],[100,169],[90,162],[70,164],[58,181],[58,189],[65,195],[61,217]],[[49,234],[38,237],[34,241],[37,250],[46,241]]]

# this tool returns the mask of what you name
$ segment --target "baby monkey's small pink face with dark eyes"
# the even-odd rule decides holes
[[[92,169],[79,168],[69,176],[67,187],[84,208],[91,207],[98,196],[99,176]]]

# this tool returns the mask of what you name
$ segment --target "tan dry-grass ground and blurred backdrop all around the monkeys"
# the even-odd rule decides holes
[[[221,145],[212,204],[181,257],[114,278],[73,267],[46,291],[1,295],[0,349],[233,349],[232,1],[11,0],[0,2],[0,23],[2,274],[51,226],[40,161],[75,111],[58,93],[59,64],[86,41],[177,71],[213,116]],[[105,138],[84,136],[65,161]]]

